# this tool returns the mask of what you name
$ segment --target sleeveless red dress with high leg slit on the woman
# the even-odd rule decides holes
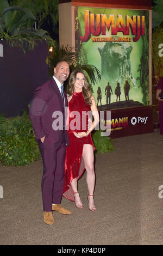
[[[67,133],[70,145],[66,147],[65,176],[63,196],[74,201],[74,194],[71,181],[82,176],[85,166],[83,161],[84,144],[91,144],[93,150],[95,146],[92,142],[91,133],[87,137],[77,138],[73,132],[87,131],[88,113],[91,112],[89,105],[85,103],[83,93],[73,93],[72,99],[68,102]],[[75,130],[74,130],[74,127]]]

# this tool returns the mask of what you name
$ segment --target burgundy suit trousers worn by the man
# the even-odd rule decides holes
[[[60,204],[63,185],[64,185],[64,169],[65,169],[65,155],[66,143],[62,136],[62,141],[52,143],[49,138],[45,137],[42,143],[40,139],[37,140],[39,144],[42,162],[42,201],[43,211],[52,211],[52,204]]]

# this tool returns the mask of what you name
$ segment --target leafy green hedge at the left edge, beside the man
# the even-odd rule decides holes
[[[0,163],[24,166],[40,158],[32,124],[24,111],[21,117],[0,117]]]

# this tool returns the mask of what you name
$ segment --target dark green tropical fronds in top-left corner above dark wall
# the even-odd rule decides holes
[[[7,0],[0,2],[0,39],[7,39],[9,45],[19,46],[25,52],[34,48],[37,40],[47,40],[48,44],[55,47],[47,31],[35,29],[36,17],[29,8],[10,6]]]

